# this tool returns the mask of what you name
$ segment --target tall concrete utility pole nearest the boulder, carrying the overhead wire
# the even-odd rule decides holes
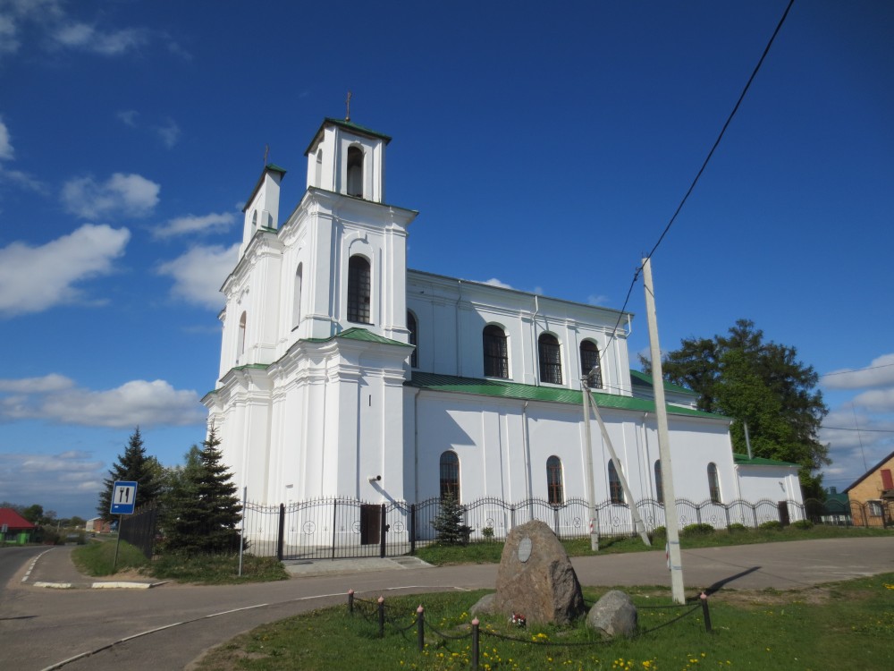
[[[664,404],[662,348],[658,342],[658,320],[655,317],[655,292],[652,285],[652,263],[643,259],[645,285],[645,317],[649,323],[649,349],[652,352],[652,386],[655,393],[655,415],[658,419],[658,453],[662,462],[662,493],[664,496],[664,526],[668,535],[668,568],[671,569],[671,596],[679,604],[686,603],[683,593],[683,561],[679,551],[679,520],[677,498],[673,491],[671,469],[671,441],[668,431],[668,412]]]

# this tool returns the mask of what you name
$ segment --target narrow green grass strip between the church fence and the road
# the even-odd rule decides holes
[[[810,540],[810,539],[849,539],[859,537],[894,535],[894,530],[866,529],[863,527],[838,527],[831,525],[817,525],[811,529],[797,529],[793,526],[780,530],[752,529],[744,531],[714,531],[706,534],[682,535],[680,547],[684,549],[694,548],[719,548],[729,545],[753,545],[755,543],[772,543],[783,540]],[[665,538],[655,536],[652,539],[652,547],[643,543],[639,536],[603,536],[599,539],[599,550],[590,550],[590,539],[563,540],[562,545],[569,556],[593,556],[615,555],[625,552],[664,551]],[[469,543],[468,546],[442,546],[437,543],[417,548],[416,556],[429,564],[443,566],[453,564],[496,564],[500,562],[503,544],[500,540],[478,541]]]

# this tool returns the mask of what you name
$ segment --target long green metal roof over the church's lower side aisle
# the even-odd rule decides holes
[[[503,382],[502,380],[496,379],[458,378],[453,375],[439,375],[437,373],[423,373],[417,371],[413,373],[412,379],[406,384],[407,386],[415,386],[420,389],[453,392],[457,394],[517,398],[524,401],[545,401],[548,403],[566,403],[569,405],[581,405],[583,403],[581,392],[577,389],[566,389],[554,386],[521,385],[515,382]],[[601,394],[599,392],[595,392],[593,395],[596,403],[601,408],[655,412],[655,403],[649,399],[616,394]],[[670,414],[674,415],[726,419],[721,417],[721,415],[715,415],[711,412],[680,408],[676,405],[668,405],[667,409]]]

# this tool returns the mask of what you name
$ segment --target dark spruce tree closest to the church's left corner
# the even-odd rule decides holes
[[[223,465],[214,427],[186,454],[186,465],[173,472],[164,497],[164,547],[188,555],[239,549],[242,505],[232,473]]]

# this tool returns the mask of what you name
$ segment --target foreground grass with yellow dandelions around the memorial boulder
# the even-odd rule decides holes
[[[603,643],[583,625],[558,629],[511,627],[503,617],[482,617],[480,668],[621,669],[881,669],[894,668],[894,573],[819,588],[780,592],[723,590],[710,600],[713,632],[704,631],[701,608],[672,620],[687,607],[670,604],[663,588],[625,589],[639,607],[641,633]],[[587,605],[605,589],[587,589]],[[198,671],[278,669],[464,669],[470,640],[445,638],[468,633],[468,609],[485,590],[389,598],[384,638],[370,611],[350,616],[347,606],[326,608],[267,624],[212,650]],[[690,595],[695,597],[695,595]],[[368,598],[370,601],[374,597]],[[411,626],[419,603],[426,607],[426,647],[417,650]],[[397,627],[408,627],[401,633]],[[658,627],[656,629],[656,627]],[[652,631],[648,631],[652,630]],[[645,633],[644,633],[645,632]],[[530,641],[540,641],[533,644]],[[584,643],[586,645],[573,645]]]

